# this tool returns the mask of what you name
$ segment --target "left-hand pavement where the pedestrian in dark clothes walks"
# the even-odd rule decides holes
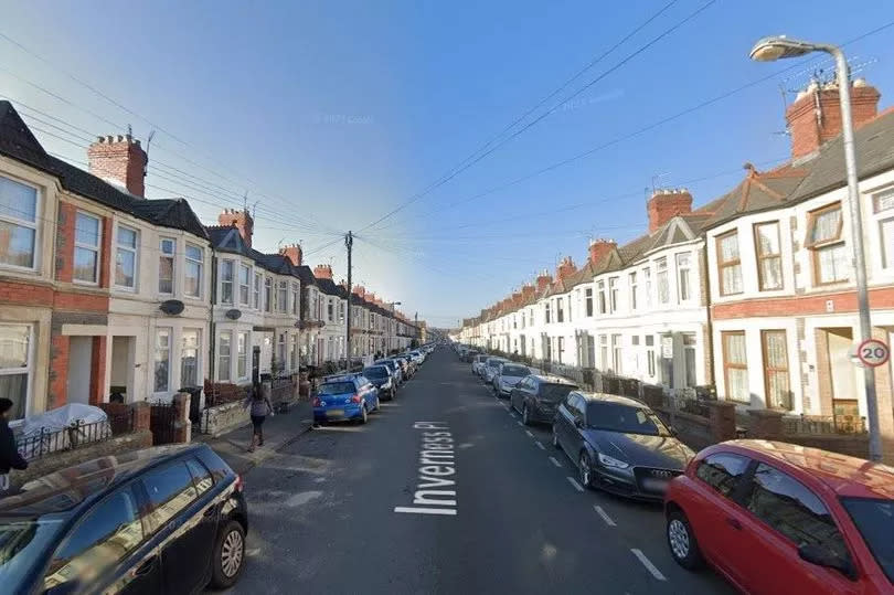
[[[313,410],[308,401],[299,401],[289,407],[288,413],[278,413],[264,422],[264,446],[248,453],[252,438],[252,424],[237,427],[216,438],[209,435],[193,435],[193,442],[211,446],[234,471],[245,475],[276,451],[310,429]]]

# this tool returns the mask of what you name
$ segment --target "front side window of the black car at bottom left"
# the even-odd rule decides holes
[[[73,578],[92,583],[136,550],[143,538],[137,510],[130,487],[95,506],[56,550],[44,576],[44,588]]]

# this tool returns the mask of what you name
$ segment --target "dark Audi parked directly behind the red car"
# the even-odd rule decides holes
[[[581,485],[661,500],[695,455],[645,403],[572,391],[553,421],[553,446],[577,464]]]

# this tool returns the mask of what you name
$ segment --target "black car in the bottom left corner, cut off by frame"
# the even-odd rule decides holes
[[[206,445],[94,459],[0,499],[3,593],[194,593],[245,562],[242,479]]]

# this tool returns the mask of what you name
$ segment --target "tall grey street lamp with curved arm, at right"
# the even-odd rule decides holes
[[[837,45],[790,40],[785,35],[764,38],[752,47],[751,57],[757,62],[773,62],[784,57],[798,57],[811,52],[826,52],[836,60],[838,93],[841,103],[841,136],[844,149],[844,167],[848,174],[848,205],[851,216],[851,245],[853,267],[856,275],[856,302],[860,308],[860,339],[872,339],[869,291],[866,289],[866,262],[863,255],[863,214],[860,206],[860,190],[856,182],[856,157],[853,150],[853,119],[851,116],[850,68],[844,53]],[[879,432],[879,405],[875,399],[875,370],[863,368],[866,386],[866,418],[870,433],[870,459],[882,459],[882,437]]]

